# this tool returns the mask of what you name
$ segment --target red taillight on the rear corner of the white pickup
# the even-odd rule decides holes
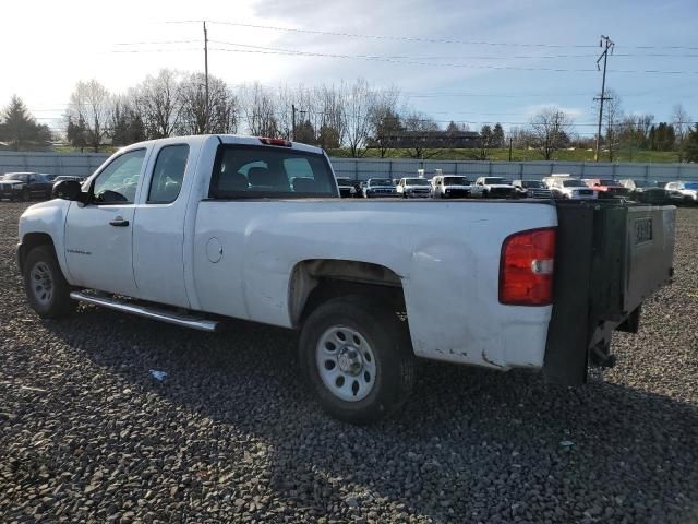
[[[500,261],[500,302],[547,306],[553,302],[555,229],[531,229],[507,237]]]

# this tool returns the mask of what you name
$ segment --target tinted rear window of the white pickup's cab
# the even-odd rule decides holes
[[[212,199],[337,198],[324,155],[270,146],[220,145]]]

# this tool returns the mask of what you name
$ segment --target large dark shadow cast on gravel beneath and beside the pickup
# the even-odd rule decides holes
[[[311,514],[375,505],[457,522],[698,517],[698,413],[667,397],[424,362],[405,409],[359,428],[320,412],[290,331],[240,322],[208,335],[84,307],[45,326],[132,389],[212,419],[221,439],[266,442],[265,481]]]

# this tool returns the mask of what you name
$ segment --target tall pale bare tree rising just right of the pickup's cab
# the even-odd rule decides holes
[[[358,79],[353,85],[344,90],[342,121],[346,126],[347,145],[354,158],[365,154],[375,99],[375,92],[364,79]]]

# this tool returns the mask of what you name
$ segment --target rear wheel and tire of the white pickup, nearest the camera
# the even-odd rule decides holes
[[[394,413],[414,381],[405,323],[364,296],[334,298],[315,309],[303,324],[299,356],[323,409],[351,424]]]

